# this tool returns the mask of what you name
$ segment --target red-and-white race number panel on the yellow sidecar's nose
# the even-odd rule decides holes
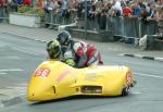
[[[45,77],[48,77],[49,73],[50,73],[49,69],[40,69],[40,70],[37,70],[35,72],[35,76],[39,76],[39,77],[43,77],[45,78]]]

